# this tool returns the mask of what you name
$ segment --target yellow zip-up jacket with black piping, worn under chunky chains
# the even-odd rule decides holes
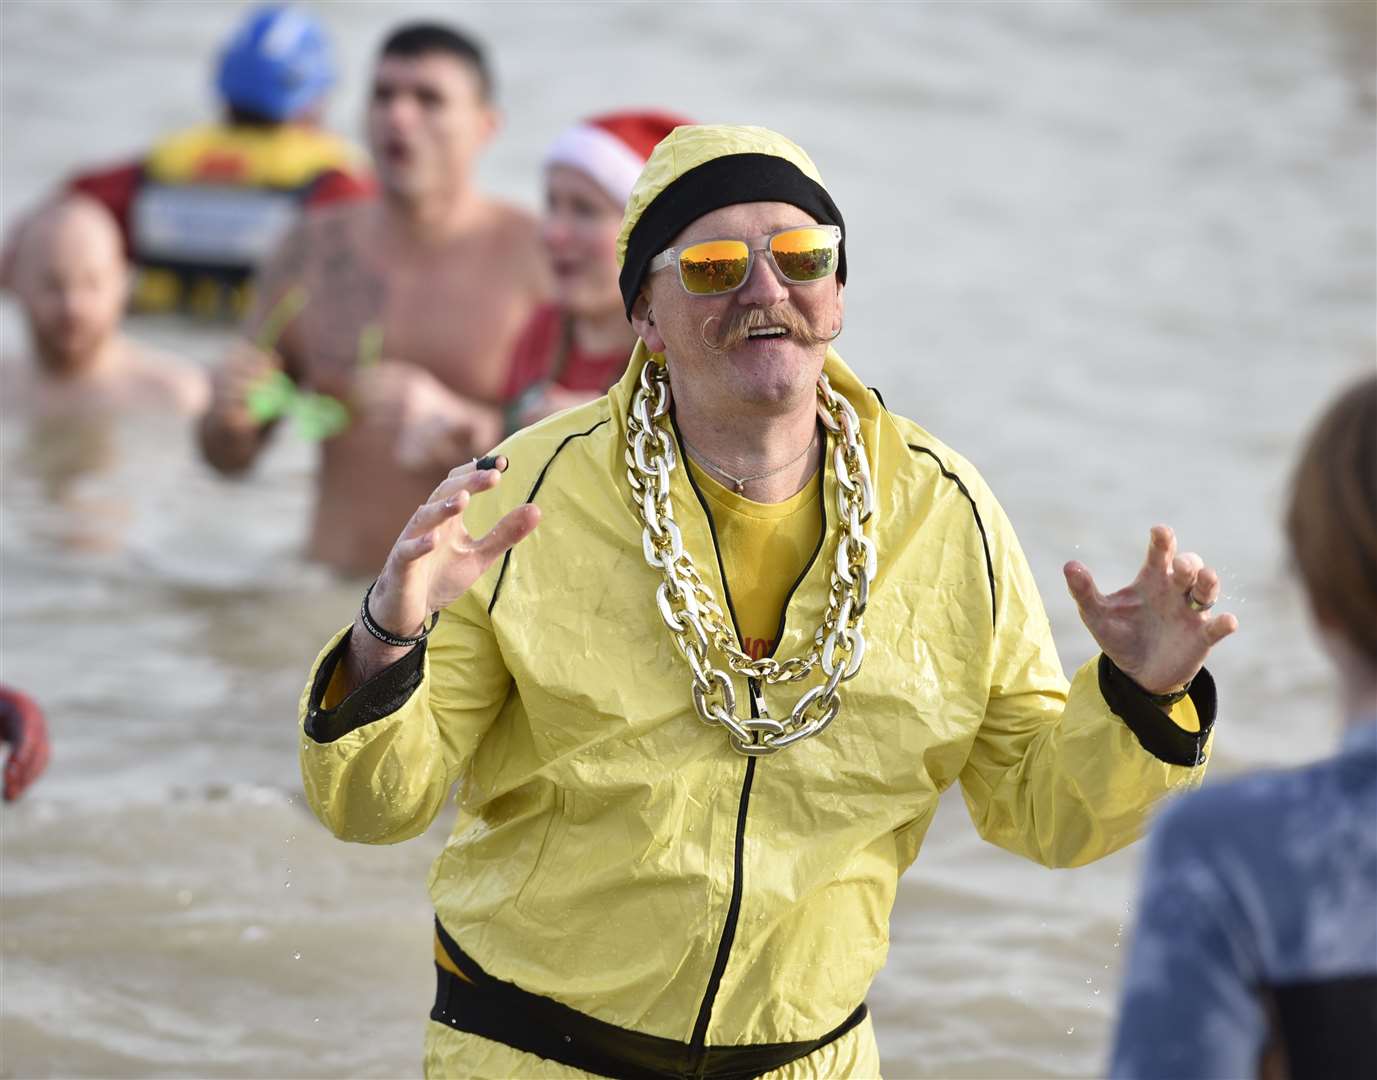
[[[829,351],[876,478],[865,663],[825,733],[742,758],[695,718],[642,554],[625,415],[646,361],[638,344],[606,398],[500,448],[509,468],[467,511],[471,532],[525,500],[541,525],[442,612],[419,663],[324,709],[347,631],[325,646],[302,700],[306,792],[337,836],[391,843],[425,829],[459,782],[430,889],[441,924],[492,975],[684,1043],[815,1039],[884,964],[899,875],[950,784],[986,839],[1048,866],[1099,858],[1137,836],[1161,795],[1199,780],[1213,683],[1201,674],[1176,723],[1103,658],[1067,686],[980,477]],[[821,482],[830,511],[833,473]],[[722,598],[683,468],[672,499]],[[806,652],[822,619],[833,525],[829,512],[777,657]],[[768,712],[786,715],[821,678],[767,686]],[[745,679],[735,690],[750,700]]]

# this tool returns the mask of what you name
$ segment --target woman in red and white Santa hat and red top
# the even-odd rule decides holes
[[[620,112],[563,131],[545,156],[541,240],[555,299],[536,309],[507,376],[507,427],[534,423],[607,391],[636,343],[617,288],[621,215],[669,113]]]

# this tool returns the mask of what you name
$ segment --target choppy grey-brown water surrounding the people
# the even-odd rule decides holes
[[[611,106],[796,136],[850,226],[839,347],[1000,493],[1064,663],[1091,643],[1062,562],[1124,579],[1165,519],[1243,621],[1212,663],[1215,774],[1325,748],[1327,672],[1275,517],[1299,433],[1374,364],[1371,4],[318,10],[355,76],[346,129],[403,14],[483,34],[508,116],[483,179],[529,205],[549,138]],[[238,11],[6,3],[6,220],[200,120]],[[8,306],[3,332],[15,351]],[[135,333],[197,362],[223,344]],[[310,449],[284,439],[227,485],[183,427],[69,434],[0,431],[0,678],[55,738],[0,810],[0,1074],[417,1073],[441,833],[340,844],[297,795],[299,683],[358,595],[295,554]],[[1096,1074],[1136,858],[1044,871],[949,799],[870,999],[887,1074]]]

